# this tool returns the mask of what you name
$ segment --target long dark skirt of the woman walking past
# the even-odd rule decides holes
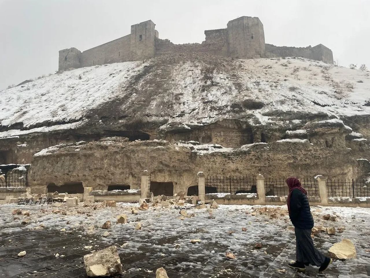
[[[297,262],[319,267],[325,260],[325,255],[313,246],[311,229],[295,228]]]

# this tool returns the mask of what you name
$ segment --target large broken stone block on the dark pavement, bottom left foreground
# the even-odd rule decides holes
[[[85,255],[84,264],[89,277],[120,274],[122,268],[116,246]]]

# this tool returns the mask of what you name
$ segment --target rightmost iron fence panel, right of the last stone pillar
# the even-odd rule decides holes
[[[330,197],[370,197],[369,183],[363,179],[327,180],[326,193]]]

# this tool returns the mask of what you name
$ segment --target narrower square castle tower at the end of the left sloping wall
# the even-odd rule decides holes
[[[154,28],[155,24],[151,20],[131,25],[130,58],[132,61],[155,56],[155,37],[158,37],[158,32]]]

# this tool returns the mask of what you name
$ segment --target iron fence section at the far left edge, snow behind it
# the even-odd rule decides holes
[[[27,186],[28,170],[23,165],[9,164],[0,166],[0,187]]]

